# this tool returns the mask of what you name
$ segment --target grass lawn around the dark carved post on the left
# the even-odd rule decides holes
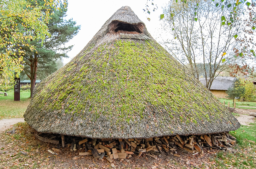
[[[30,102],[30,90],[20,90],[20,101],[13,101],[13,90],[9,90],[7,94],[8,96],[0,95],[0,120],[23,117]]]

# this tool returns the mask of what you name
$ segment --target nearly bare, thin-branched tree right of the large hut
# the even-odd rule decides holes
[[[165,9],[164,29],[173,39],[163,43],[188,65],[197,79],[203,72],[208,89],[217,72],[227,68],[223,65],[234,60],[230,53],[237,42],[240,20],[233,18],[240,16],[242,10],[236,4],[226,6],[226,3],[222,0],[176,1]]]

